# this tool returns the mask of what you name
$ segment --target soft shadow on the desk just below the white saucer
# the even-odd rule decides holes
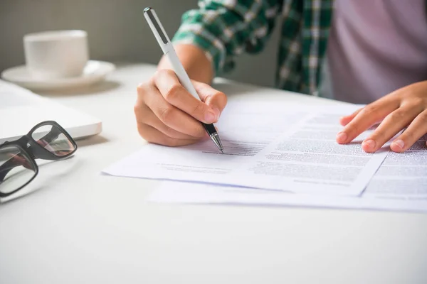
[[[120,82],[116,81],[104,81],[98,84],[93,84],[86,87],[72,88],[72,89],[57,89],[54,91],[43,91],[38,92],[46,97],[73,97],[73,96],[84,96],[87,94],[97,94],[103,92],[110,92],[113,89],[120,87]]]

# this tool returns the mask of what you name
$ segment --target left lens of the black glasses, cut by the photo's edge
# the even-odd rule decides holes
[[[35,165],[15,146],[0,148],[0,193],[10,194],[36,175]]]

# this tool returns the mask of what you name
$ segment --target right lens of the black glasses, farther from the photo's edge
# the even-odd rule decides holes
[[[46,124],[40,126],[31,134],[34,141],[47,151],[62,157],[75,150],[75,144],[58,127]]]

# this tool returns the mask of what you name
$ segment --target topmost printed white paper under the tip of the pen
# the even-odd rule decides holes
[[[369,131],[348,145],[335,142],[335,135],[342,129],[339,116],[357,108],[231,103],[217,124],[225,155],[211,141],[180,148],[148,145],[104,173],[359,195],[388,150],[364,153],[360,143]]]

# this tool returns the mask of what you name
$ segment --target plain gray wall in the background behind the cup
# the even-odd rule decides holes
[[[88,31],[94,60],[157,64],[161,52],[142,16],[153,6],[169,36],[182,13],[196,0],[0,0],[0,70],[24,63],[22,38],[26,33],[83,29]],[[278,32],[260,55],[243,55],[230,75],[234,80],[273,86]]]

